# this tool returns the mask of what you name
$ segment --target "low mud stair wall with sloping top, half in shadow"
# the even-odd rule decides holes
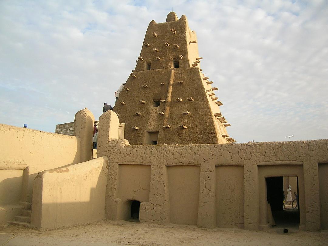
[[[103,219],[107,175],[107,157],[38,174],[33,184],[32,227],[54,229]]]

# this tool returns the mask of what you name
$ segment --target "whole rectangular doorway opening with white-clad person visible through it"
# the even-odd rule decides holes
[[[274,219],[274,225],[277,227],[297,227],[299,226],[299,205],[298,199],[294,192],[298,194],[298,178],[296,176],[279,176],[265,178],[267,188],[267,201],[271,206],[271,212]],[[286,183],[288,184],[286,185]],[[293,185],[289,184],[293,183]],[[291,185],[291,190],[287,191],[288,185]],[[293,195],[291,195],[293,194]],[[293,201],[288,201],[290,196],[295,199],[295,208],[292,207]],[[298,198],[298,197],[297,197]],[[297,203],[297,206],[296,206]]]

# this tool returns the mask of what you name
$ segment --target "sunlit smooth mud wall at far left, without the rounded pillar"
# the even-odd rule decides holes
[[[15,193],[3,197],[0,204],[17,204],[21,195],[31,202],[32,182],[38,172],[80,162],[79,139],[55,133],[0,125],[0,189],[15,189]],[[29,166],[28,183],[21,194],[23,170]],[[21,177],[17,176],[20,170]],[[15,188],[14,188],[15,187]],[[13,199],[14,195],[14,199]]]

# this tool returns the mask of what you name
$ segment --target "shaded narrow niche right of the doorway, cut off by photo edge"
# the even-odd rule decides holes
[[[318,164],[321,228],[328,229],[328,163]]]

